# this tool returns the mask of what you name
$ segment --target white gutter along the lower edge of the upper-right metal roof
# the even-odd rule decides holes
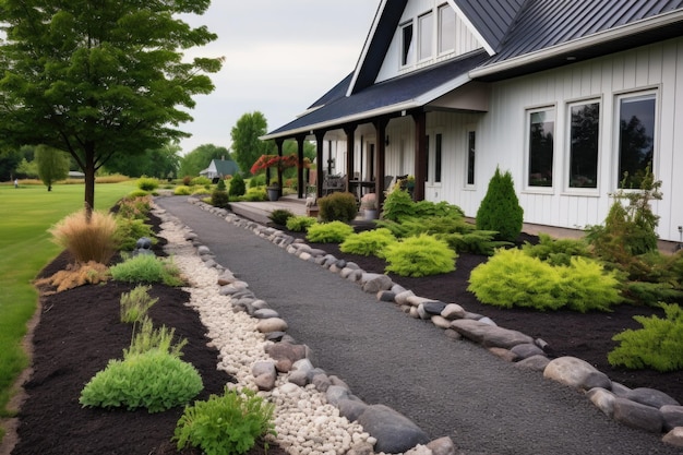
[[[667,25],[672,25],[681,21],[683,21],[683,11],[681,10],[660,14],[655,17],[646,19],[633,24],[622,25],[616,28],[599,32],[588,38],[574,39],[572,41],[563,43],[558,46],[552,46],[534,52],[525,53],[524,56],[515,57],[500,63],[481,67],[479,69],[470,71],[469,75],[471,79],[494,75],[499,72],[514,70],[520,67],[547,60],[552,57],[558,57],[558,55],[571,53],[573,51],[582,50],[591,46],[597,46],[616,39],[626,38],[635,34],[649,32],[659,27],[664,27]]]

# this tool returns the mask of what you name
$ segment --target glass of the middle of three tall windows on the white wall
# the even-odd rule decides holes
[[[570,188],[598,188],[600,104],[570,106]]]

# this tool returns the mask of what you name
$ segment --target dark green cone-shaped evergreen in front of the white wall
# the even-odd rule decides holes
[[[477,211],[477,229],[498,231],[496,240],[514,242],[522,232],[524,209],[519,205],[510,171],[495,173]]]

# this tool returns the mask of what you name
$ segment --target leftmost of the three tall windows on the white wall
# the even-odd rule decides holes
[[[552,187],[555,110],[528,112],[528,187]]]

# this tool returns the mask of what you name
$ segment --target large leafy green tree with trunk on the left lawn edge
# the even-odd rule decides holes
[[[85,173],[115,154],[160,148],[189,134],[193,95],[214,86],[220,58],[183,59],[216,35],[180,14],[209,0],[0,0],[0,136],[67,151]]]

